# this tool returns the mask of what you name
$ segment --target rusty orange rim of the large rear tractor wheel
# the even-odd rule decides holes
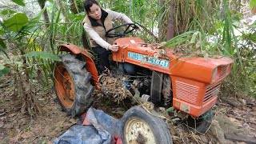
[[[74,105],[74,82],[64,66],[56,66],[54,70],[55,88],[63,106],[70,108]]]

